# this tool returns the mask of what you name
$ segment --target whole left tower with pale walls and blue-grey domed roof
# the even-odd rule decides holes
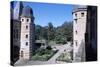
[[[29,6],[23,8],[20,16],[21,36],[20,36],[20,59],[31,59],[32,47],[35,42],[34,16]]]

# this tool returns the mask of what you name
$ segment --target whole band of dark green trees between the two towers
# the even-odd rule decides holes
[[[48,44],[49,41],[65,44],[67,41],[72,41],[73,39],[73,24],[72,22],[65,21],[58,27],[54,27],[51,22],[48,23],[48,26],[44,27],[36,25],[35,33],[36,40],[44,39],[46,44]]]

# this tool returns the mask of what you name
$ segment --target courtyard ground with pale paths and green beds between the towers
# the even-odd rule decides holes
[[[15,65],[20,66],[20,65],[41,65],[41,64],[55,64],[55,63],[56,64],[69,63],[69,61],[72,61],[71,56],[69,55],[70,51],[72,51],[72,47],[70,45],[71,45],[71,43],[68,42],[67,44],[64,44],[64,45],[51,46],[52,50],[55,50],[55,51],[57,50],[57,51],[53,52],[52,50],[47,50],[48,53],[43,54],[43,55],[39,55],[39,54],[42,54],[40,51],[32,57],[32,60],[30,60],[30,61],[18,60],[15,63]],[[43,50],[43,52],[44,53],[46,52],[45,49]],[[60,56],[62,56],[63,53],[68,54],[68,55],[65,55],[65,58],[63,57],[64,60],[69,60],[68,62],[67,61],[64,62],[63,60],[57,60],[57,59],[59,59]]]

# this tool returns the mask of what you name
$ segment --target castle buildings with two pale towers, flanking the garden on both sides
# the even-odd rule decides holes
[[[11,2],[13,5],[13,2]],[[94,13],[94,14],[93,14]],[[76,6],[73,15],[73,60],[97,60],[97,8]],[[11,61],[30,60],[35,50],[32,8],[17,2],[11,7]]]

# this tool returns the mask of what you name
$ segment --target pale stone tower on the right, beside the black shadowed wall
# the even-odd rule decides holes
[[[76,6],[73,9],[73,59],[85,61],[85,32],[87,6]]]

